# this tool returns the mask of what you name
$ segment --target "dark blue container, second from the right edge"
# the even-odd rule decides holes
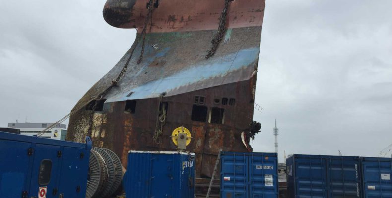
[[[289,198],[361,198],[360,158],[295,154],[286,160]]]

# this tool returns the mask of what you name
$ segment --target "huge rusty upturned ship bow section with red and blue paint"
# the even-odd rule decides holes
[[[209,59],[205,54],[217,31],[218,13],[224,1],[201,0],[205,2],[202,5],[201,1],[199,4],[181,0],[190,3],[183,9],[173,6],[170,3],[173,1],[176,0],[160,0],[148,32],[143,35],[140,29],[148,1],[108,0],[105,20],[115,27],[138,28],[136,41],[75,105],[67,140],[82,142],[86,135],[91,135],[94,146],[113,150],[126,167],[129,150],[176,150],[170,136],[175,128],[184,126],[193,137],[187,150],[196,153],[196,176],[210,177],[219,149],[248,150],[240,134],[253,118],[265,1],[231,2],[228,29],[215,55]],[[212,5],[211,1],[219,3]],[[175,19],[191,12],[187,17],[190,20],[173,22],[173,7],[181,10]],[[235,23],[241,14],[247,20]],[[138,64],[143,37],[143,59]],[[124,72],[121,80],[113,86],[113,79],[121,72]],[[110,86],[98,100],[100,93]],[[102,104],[92,111],[91,102]],[[160,125],[162,108],[166,119]],[[154,140],[158,125],[162,131],[160,142]]]

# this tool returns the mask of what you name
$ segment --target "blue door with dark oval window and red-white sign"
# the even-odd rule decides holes
[[[31,176],[30,195],[37,198],[58,198],[59,146],[36,144]]]

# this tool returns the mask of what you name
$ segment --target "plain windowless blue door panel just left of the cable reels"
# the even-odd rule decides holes
[[[85,198],[88,174],[88,153],[82,148],[63,148],[59,194],[64,198]],[[81,158],[83,153],[83,158]],[[61,182],[67,181],[67,182]]]

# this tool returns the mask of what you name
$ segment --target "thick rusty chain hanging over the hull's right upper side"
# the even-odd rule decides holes
[[[223,35],[226,33],[226,19],[227,19],[227,12],[229,9],[229,2],[232,0],[225,0],[225,7],[223,8],[222,14],[220,16],[218,32],[214,35],[211,40],[211,49],[208,51],[207,55],[205,56],[206,59],[210,58],[215,54],[216,49],[218,48],[220,42],[223,39]]]

